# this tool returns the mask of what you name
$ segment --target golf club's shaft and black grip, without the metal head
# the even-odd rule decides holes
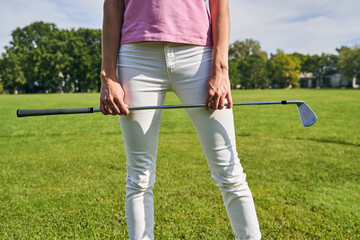
[[[233,103],[233,106],[246,106],[246,105],[271,105],[271,104],[303,104],[301,100],[284,100],[274,102],[243,102]],[[162,106],[142,106],[142,107],[129,107],[130,111],[133,110],[146,110],[146,109],[175,109],[175,108],[199,108],[205,107],[205,104],[188,104],[188,105],[162,105]],[[28,116],[44,116],[44,115],[59,115],[59,114],[80,114],[80,113],[94,113],[100,112],[100,108],[62,108],[62,109],[18,109],[18,117]]]

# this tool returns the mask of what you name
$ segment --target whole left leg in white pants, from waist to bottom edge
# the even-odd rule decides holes
[[[164,103],[168,83],[161,75],[163,71],[156,70],[163,64],[163,54],[156,49],[147,44],[121,46],[118,76],[129,106]],[[120,117],[127,166],[125,210],[131,240],[154,238],[153,188],[161,113],[142,110]]]

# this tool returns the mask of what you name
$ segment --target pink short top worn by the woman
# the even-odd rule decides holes
[[[125,0],[121,44],[165,41],[212,46],[204,0]]]

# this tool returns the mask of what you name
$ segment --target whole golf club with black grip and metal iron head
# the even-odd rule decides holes
[[[304,127],[313,125],[317,119],[315,113],[311,108],[301,100],[284,100],[274,102],[243,102],[233,103],[233,106],[246,106],[246,105],[273,105],[273,104],[296,104],[298,107],[301,123]],[[205,107],[204,104],[190,104],[190,105],[163,105],[163,106],[142,106],[142,107],[129,107],[130,111],[145,110],[145,109],[174,109],[174,108],[196,108]],[[18,117],[28,116],[43,116],[43,115],[58,115],[58,114],[78,114],[78,113],[94,113],[100,112],[100,108],[63,108],[63,109],[18,109]]]

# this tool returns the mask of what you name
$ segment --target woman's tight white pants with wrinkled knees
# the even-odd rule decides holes
[[[183,104],[204,103],[212,48],[163,42],[121,45],[118,77],[129,106],[164,104],[173,90]],[[162,110],[120,117],[127,164],[126,218],[129,238],[154,239],[153,188]],[[211,176],[224,199],[236,239],[260,239],[253,198],[236,152],[231,109],[186,109]]]

